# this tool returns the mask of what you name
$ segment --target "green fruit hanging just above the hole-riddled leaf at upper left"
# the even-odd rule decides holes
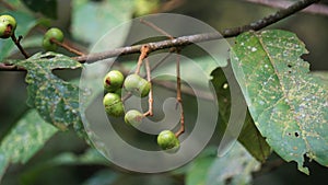
[[[50,50],[50,51],[55,51],[58,48],[58,45],[55,43],[51,43],[50,39],[55,38],[56,41],[62,43],[63,42],[63,33],[57,28],[57,27],[52,27],[49,28],[43,39],[43,47],[46,50]]]

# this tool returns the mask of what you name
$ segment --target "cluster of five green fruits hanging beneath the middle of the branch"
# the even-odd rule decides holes
[[[106,94],[103,104],[109,116],[120,117],[125,115],[125,122],[128,125],[138,126],[142,123],[144,115],[137,109],[130,109],[125,114],[124,103],[121,101],[121,89],[139,97],[148,96],[151,83],[138,74],[129,74],[126,79],[118,70],[109,71],[104,80]],[[179,140],[171,130],[163,130],[157,136],[157,144],[163,150],[177,151]]]

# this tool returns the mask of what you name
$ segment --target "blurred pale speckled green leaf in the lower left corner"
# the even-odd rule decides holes
[[[10,163],[25,163],[56,132],[35,109],[28,111],[1,141],[0,180]]]

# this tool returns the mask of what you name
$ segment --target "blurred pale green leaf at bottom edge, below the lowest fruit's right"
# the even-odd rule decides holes
[[[259,170],[257,162],[245,148],[236,142],[224,157],[213,152],[198,157],[186,175],[187,185],[239,185],[251,182],[251,172]]]

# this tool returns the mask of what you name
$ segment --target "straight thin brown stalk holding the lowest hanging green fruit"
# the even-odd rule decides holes
[[[180,128],[175,134],[175,137],[178,138],[181,134],[185,132],[185,114],[184,114],[183,97],[181,97],[180,56],[179,56],[179,54],[177,55],[177,58],[176,58],[176,100],[177,100],[177,104],[180,107]]]

